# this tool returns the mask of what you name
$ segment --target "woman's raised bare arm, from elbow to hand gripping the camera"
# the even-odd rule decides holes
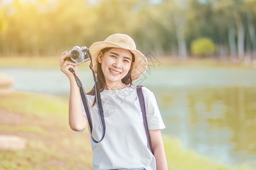
[[[80,99],[80,91],[77,86],[75,76],[68,69],[73,69],[77,75],[77,64],[71,61],[65,61],[69,57],[67,51],[60,56],[60,70],[68,76],[70,81],[70,96],[69,96],[69,126],[72,130],[81,131],[87,124],[86,117],[82,115],[82,105]]]

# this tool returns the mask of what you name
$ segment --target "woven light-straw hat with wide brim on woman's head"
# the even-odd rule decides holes
[[[106,38],[105,41],[94,42],[89,50],[92,55],[93,70],[97,73],[97,60],[98,54],[104,48],[122,48],[130,50],[135,56],[135,61],[133,65],[133,71],[131,72],[131,77],[133,80],[137,80],[147,69],[147,58],[136,49],[134,40],[121,33],[115,33]]]

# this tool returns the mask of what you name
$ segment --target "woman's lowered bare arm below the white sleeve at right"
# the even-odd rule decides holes
[[[164,144],[162,134],[159,130],[148,130],[150,134],[151,147],[156,159],[156,169],[168,170],[166,152],[164,151]]]

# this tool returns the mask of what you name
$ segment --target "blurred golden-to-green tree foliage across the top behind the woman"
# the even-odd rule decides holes
[[[199,37],[229,46],[235,13],[245,33],[252,32],[246,17],[250,14],[255,30],[255,5],[253,0],[6,1],[0,12],[0,55],[50,56],[74,45],[90,46],[112,33],[131,35],[144,53],[179,55],[181,44],[191,46]],[[253,40],[245,42],[253,47]]]

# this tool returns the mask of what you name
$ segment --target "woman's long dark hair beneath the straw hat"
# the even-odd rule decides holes
[[[101,50],[102,52],[102,55],[104,55],[106,52],[108,52],[110,49],[112,48],[104,48]],[[100,52],[100,53],[101,53]],[[100,54],[99,53],[99,54]],[[130,52],[131,53],[131,52]],[[127,75],[122,78],[122,83],[123,84],[126,84],[127,86],[131,86],[133,85],[133,79],[131,77],[131,72],[133,71],[133,63],[135,61],[135,56],[133,53],[131,53],[131,56],[132,56],[132,59],[131,59],[131,67],[130,67],[130,70],[128,71]],[[98,59],[97,59],[97,80],[98,80],[98,87],[100,88],[100,92],[102,92],[105,87],[106,87],[106,81],[105,81],[105,76],[104,76],[104,73],[102,71],[102,68],[101,68],[101,63],[98,62]],[[90,90],[87,95],[93,95],[95,96],[95,86],[93,86],[92,90]],[[94,101],[93,101],[93,106],[96,104],[96,97],[94,98]]]

